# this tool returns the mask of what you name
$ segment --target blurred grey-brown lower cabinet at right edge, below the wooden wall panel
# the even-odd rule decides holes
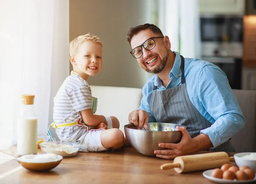
[[[256,90],[256,67],[244,67],[242,89]]]

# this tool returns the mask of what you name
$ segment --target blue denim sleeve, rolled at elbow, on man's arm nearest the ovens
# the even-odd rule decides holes
[[[198,97],[215,122],[200,133],[209,136],[213,148],[228,141],[244,127],[244,116],[226,74],[215,65],[202,67],[198,75]]]

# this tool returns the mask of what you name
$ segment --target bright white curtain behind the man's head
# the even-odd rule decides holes
[[[163,34],[169,37],[171,50],[180,52],[185,58],[201,58],[198,0],[156,2],[159,3],[157,23]]]

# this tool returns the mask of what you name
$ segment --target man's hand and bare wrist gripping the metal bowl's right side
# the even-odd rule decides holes
[[[189,132],[184,127],[177,126],[182,132],[182,138],[179,143],[160,143],[159,147],[169,148],[172,150],[155,150],[154,154],[159,158],[174,159],[181,155],[191,155],[205,148],[212,147],[212,143],[208,135],[200,134],[195,138],[191,138]],[[204,140],[204,141],[202,141]]]

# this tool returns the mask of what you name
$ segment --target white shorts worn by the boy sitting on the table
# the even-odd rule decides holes
[[[112,127],[112,120],[109,116],[105,117],[108,122],[108,128],[111,129]],[[84,137],[84,140],[81,143],[81,147],[79,151],[81,152],[100,152],[106,151],[105,147],[103,147],[100,136],[104,129],[99,130],[90,130]]]

